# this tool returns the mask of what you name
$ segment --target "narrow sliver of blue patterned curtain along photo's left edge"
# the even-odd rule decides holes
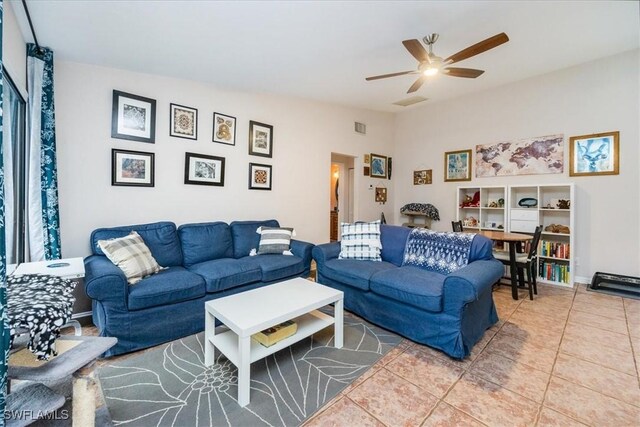
[[[0,0],[0,94],[3,91],[2,68],[2,23],[3,3]],[[7,321],[7,280],[6,280],[6,249],[4,229],[4,162],[2,153],[2,98],[0,96],[0,426],[4,426],[4,410],[7,399],[7,361],[9,360],[9,323]]]

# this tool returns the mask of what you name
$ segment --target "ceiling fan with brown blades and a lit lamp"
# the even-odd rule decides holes
[[[476,77],[484,73],[484,71],[476,70],[473,68],[449,67],[449,65],[460,62],[467,58],[471,58],[472,56],[479,55],[482,52],[493,49],[494,47],[500,46],[501,44],[508,42],[509,37],[507,37],[505,33],[496,34],[495,36],[489,37],[488,39],[476,43],[473,46],[462,49],[460,52],[451,55],[447,59],[442,59],[441,57],[433,53],[433,45],[438,40],[438,34],[429,34],[422,40],[429,47],[429,52],[427,52],[427,50],[417,39],[405,40],[402,42],[409,53],[418,60],[417,70],[382,74],[380,76],[367,77],[366,80],[371,81],[386,79],[388,77],[403,76],[405,74],[421,74],[421,76],[418,77],[418,80],[416,80],[407,91],[407,93],[412,93],[420,89],[420,86],[422,86],[430,76],[435,76],[439,73],[452,77],[465,77],[468,79],[475,79]]]

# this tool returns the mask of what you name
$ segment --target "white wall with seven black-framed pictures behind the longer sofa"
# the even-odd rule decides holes
[[[215,72],[215,70],[212,70]],[[256,78],[259,78],[256,77]],[[298,238],[329,241],[331,152],[391,154],[394,116],[290,97],[219,90],[186,80],[113,68],[55,63],[62,251],[89,254],[98,227],[170,220],[176,224],[276,218]],[[157,100],[156,143],[112,139],[113,89]],[[198,109],[198,141],[169,137],[169,103]],[[213,112],[237,118],[236,145],[211,142]],[[274,157],[248,155],[249,120],[274,126]],[[366,137],[354,121],[367,124]],[[155,188],[111,186],[111,149],[156,154]],[[185,185],[184,153],[226,158],[224,187]],[[273,165],[273,191],[248,190],[248,164]],[[356,174],[356,219],[390,216],[375,203],[368,178]],[[372,181],[373,182],[373,181]]]

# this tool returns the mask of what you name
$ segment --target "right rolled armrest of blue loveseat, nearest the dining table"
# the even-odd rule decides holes
[[[444,307],[462,307],[491,291],[494,283],[502,277],[504,267],[495,259],[474,261],[447,276],[444,280]]]

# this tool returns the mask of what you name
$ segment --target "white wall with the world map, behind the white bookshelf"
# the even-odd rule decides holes
[[[576,276],[640,275],[639,52],[398,114],[394,211],[409,202],[432,203],[441,216],[434,228],[449,230],[459,185],[575,182]],[[570,178],[569,137],[614,130],[620,131],[620,174]],[[444,182],[445,151],[557,133],[565,135],[564,174]],[[418,168],[433,169],[432,185],[412,185]]]

